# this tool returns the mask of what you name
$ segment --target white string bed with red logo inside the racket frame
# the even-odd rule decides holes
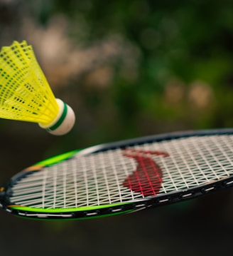
[[[185,198],[198,186],[210,184],[205,188],[207,192],[213,188],[211,183],[233,175],[232,148],[233,135],[205,135],[81,152],[16,180],[10,200],[16,205],[43,209],[92,208],[128,202],[143,208],[143,200],[151,198],[166,203],[170,193],[188,190],[180,195]],[[149,180],[155,188],[146,184],[152,171],[145,164],[148,158],[156,175],[162,171],[158,193],[159,182]],[[146,172],[149,175],[144,175]],[[125,185],[127,179],[129,183]],[[140,184],[135,185],[136,182]],[[147,194],[143,194],[145,191]]]

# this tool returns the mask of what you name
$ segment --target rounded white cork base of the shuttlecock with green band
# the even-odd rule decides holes
[[[39,123],[39,126],[53,135],[64,135],[68,133],[75,124],[75,113],[72,108],[59,98],[55,99],[59,106],[58,116],[52,123],[44,126]]]

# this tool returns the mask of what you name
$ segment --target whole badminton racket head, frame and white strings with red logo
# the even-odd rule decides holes
[[[43,160],[0,188],[22,217],[88,219],[196,198],[233,185],[233,129],[152,135]]]

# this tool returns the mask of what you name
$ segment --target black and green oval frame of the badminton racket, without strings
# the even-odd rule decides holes
[[[132,145],[140,145],[143,143],[160,142],[166,140],[173,140],[178,138],[188,138],[193,136],[205,136],[205,135],[231,135],[233,134],[232,128],[227,129],[215,129],[215,130],[191,130],[185,132],[165,133],[161,135],[150,135],[142,138],[134,138],[130,140],[121,140],[114,143],[105,143],[101,145],[95,145],[84,150],[73,150],[68,153],[57,155],[53,158],[43,160],[36,165],[32,165],[29,168],[21,171],[11,178],[9,183],[0,188],[0,208],[4,208],[7,212],[19,215],[21,217],[29,217],[33,219],[87,219],[93,217],[104,217],[111,215],[118,215],[122,213],[129,213],[136,210],[142,210],[145,208],[151,208],[152,206],[168,205],[172,203],[178,203],[184,200],[200,197],[207,193],[212,193],[217,190],[229,188],[233,186],[233,175],[229,178],[223,178],[212,183],[205,185],[195,186],[190,189],[178,190],[173,193],[156,195],[143,198],[141,200],[132,200],[126,203],[116,203],[112,205],[97,205],[93,207],[80,207],[80,208],[56,208],[56,209],[39,209],[29,208],[21,205],[12,205],[9,200],[11,195],[11,186],[13,183],[28,175],[28,172],[34,172],[45,168],[50,165],[59,163],[72,158],[73,155],[90,155],[93,153],[103,152],[105,150],[114,150],[116,148],[126,148]]]

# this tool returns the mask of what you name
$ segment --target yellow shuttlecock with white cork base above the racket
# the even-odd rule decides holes
[[[53,135],[69,132],[75,123],[75,113],[55,98],[26,41],[1,48],[0,118],[38,123]]]

